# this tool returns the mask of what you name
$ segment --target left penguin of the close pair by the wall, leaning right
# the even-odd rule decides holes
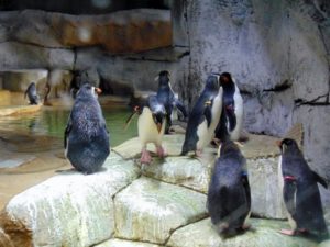
[[[219,75],[211,74],[189,114],[182,155],[186,155],[188,151],[195,151],[197,156],[201,155],[202,149],[215,136],[221,109],[222,87],[219,85]]]

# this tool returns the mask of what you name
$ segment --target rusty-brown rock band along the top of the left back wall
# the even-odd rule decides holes
[[[172,44],[170,13],[166,10],[94,16],[25,10],[4,12],[0,21],[2,41],[50,48],[99,45],[111,53],[136,53]]]

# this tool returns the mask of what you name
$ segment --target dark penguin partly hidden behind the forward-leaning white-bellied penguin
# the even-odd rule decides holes
[[[169,72],[167,70],[163,70],[158,74],[156,79],[158,80],[157,99],[164,104],[166,110],[167,125],[165,133],[168,134],[169,127],[172,126],[172,112],[174,106],[183,113],[185,119],[187,117],[187,111],[185,105],[175,97],[170,87]]]

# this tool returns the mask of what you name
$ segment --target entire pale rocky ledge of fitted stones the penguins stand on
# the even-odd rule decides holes
[[[139,164],[138,138],[113,148],[102,171],[73,169],[15,195],[0,216],[0,246],[197,247],[317,246],[280,235],[288,227],[277,187],[275,138],[251,135],[242,151],[252,190],[252,228],[222,239],[212,228],[206,193],[216,148],[179,157],[183,135],[164,138],[168,156]],[[153,151],[153,147],[150,146]],[[322,243],[320,246],[328,246]]]

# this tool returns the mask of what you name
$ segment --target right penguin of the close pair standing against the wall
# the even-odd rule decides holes
[[[239,141],[243,127],[243,98],[231,74],[220,75],[220,86],[223,88],[222,112],[216,128],[216,138]]]

